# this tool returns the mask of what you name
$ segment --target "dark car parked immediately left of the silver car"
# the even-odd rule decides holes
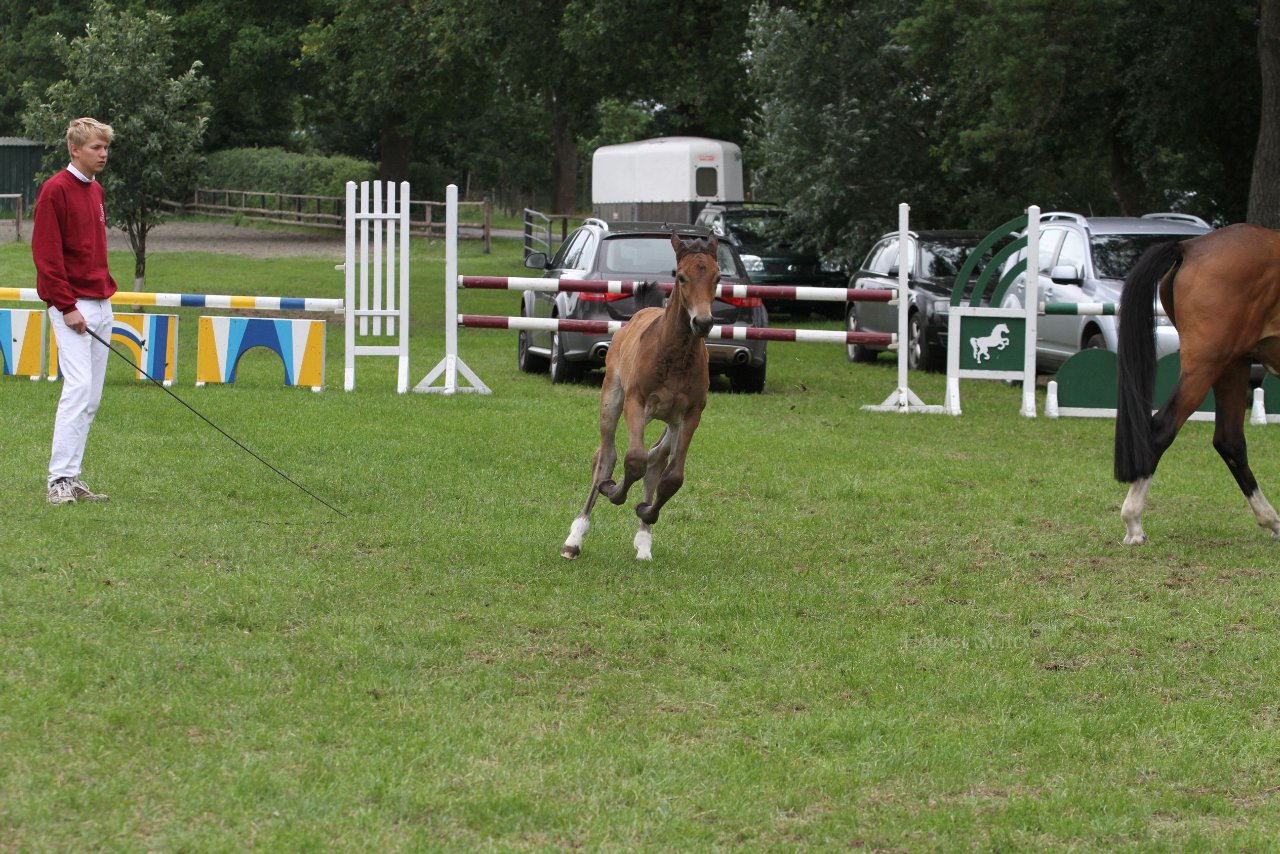
[[[951,291],[956,274],[986,232],[934,230],[908,232],[906,287],[909,310],[906,321],[906,365],[919,370],[943,370],[947,364],[947,319]],[[897,232],[886,234],[867,254],[863,266],[850,282],[855,288],[897,289],[900,254]],[[1011,238],[1010,238],[1011,239]],[[992,250],[998,252],[1001,246]],[[991,257],[974,269],[973,279],[982,273]],[[850,302],[845,307],[849,332],[897,332],[897,306],[887,302]],[[869,362],[882,347],[849,344],[849,361]]]

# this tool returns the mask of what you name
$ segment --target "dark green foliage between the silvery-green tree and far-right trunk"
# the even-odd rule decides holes
[[[1032,202],[1240,219],[1258,123],[1256,0],[920,0],[899,28],[945,106],[959,214]],[[997,210],[997,209],[1002,209]]]

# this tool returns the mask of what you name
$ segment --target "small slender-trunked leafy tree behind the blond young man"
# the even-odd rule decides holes
[[[161,201],[186,197],[202,164],[209,86],[200,63],[170,78],[172,22],[156,12],[136,15],[95,0],[84,35],[58,36],[52,50],[67,77],[38,92],[27,86],[28,136],[58,146],[67,123],[92,115],[115,131],[111,159],[101,174],[110,223],[128,233],[134,288],[146,277],[147,232],[161,220]],[[55,149],[46,166],[65,163]]]

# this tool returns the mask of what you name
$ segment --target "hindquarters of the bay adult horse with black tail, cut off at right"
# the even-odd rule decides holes
[[[1152,416],[1157,284],[1178,329],[1181,374]],[[1115,476],[1132,484],[1120,510],[1124,542],[1147,540],[1142,511],[1156,465],[1210,389],[1213,448],[1258,525],[1280,536],[1280,516],[1258,489],[1244,448],[1249,369],[1260,361],[1280,373],[1280,233],[1242,224],[1153,247],[1125,278],[1119,324]]]

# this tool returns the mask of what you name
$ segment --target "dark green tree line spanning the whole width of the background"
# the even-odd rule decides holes
[[[860,256],[900,201],[922,227],[1028,204],[1280,225],[1280,0],[116,0],[204,64],[211,150],[278,146],[508,207],[589,206],[598,145],[744,147],[755,197]],[[0,0],[0,134],[86,0]],[[1267,61],[1263,61],[1267,60]],[[1270,169],[1270,170],[1268,170]],[[1252,184],[1251,184],[1252,182]],[[1252,186],[1252,195],[1251,195]],[[265,188],[270,189],[270,188]],[[1271,222],[1276,220],[1276,222]]]

